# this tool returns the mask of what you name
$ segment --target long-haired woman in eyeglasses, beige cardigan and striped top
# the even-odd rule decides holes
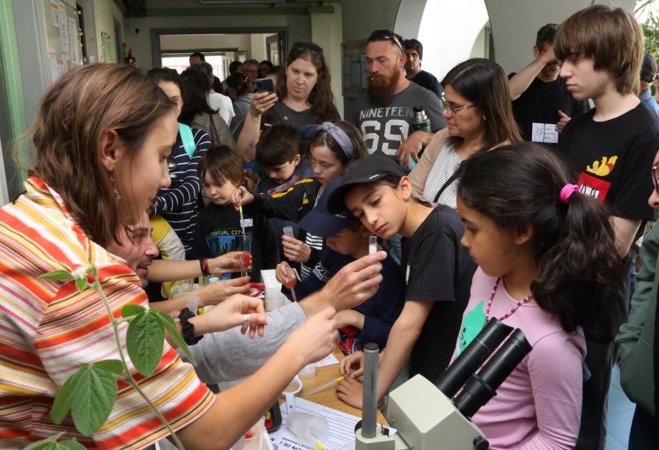
[[[513,117],[506,73],[499,64],[468,59],[449,70],[441,87],[448,127],[432,138],[409,178],[414,197],[456,209],[455,172],[462,161],[522,137]]]

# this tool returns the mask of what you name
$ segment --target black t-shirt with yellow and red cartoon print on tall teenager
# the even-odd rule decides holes
[[[559,152],[575,170],[580,192],[607,204],[617,217],[653,220],[650,167],[659,150],[659,119],[646,105],[603,122],[595,109],[570,120]]]

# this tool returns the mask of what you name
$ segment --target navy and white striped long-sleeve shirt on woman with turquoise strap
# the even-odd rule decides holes
[[[185,152],[181,135],[176,137],[176,144],[169,155],[169,158],[176,162],[176,168],[169,172],[172,185],[158,191],[155,211],[156,214],[162,214],[179,235],[188,260],[195,259],[196,256],[192,246],[199,217],[199,192],[202,190],[197,167],[206,150],[211,148],[211,138],[204,130],[193,127],[192,137],[196,147],[192,158],[189,158],[188,153]]]

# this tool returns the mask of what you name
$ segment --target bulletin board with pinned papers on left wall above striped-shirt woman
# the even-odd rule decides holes
[[[48,59],[55,81],[74,67],[81,66],[82,41],[75,1],[43,0],[48,41]]]

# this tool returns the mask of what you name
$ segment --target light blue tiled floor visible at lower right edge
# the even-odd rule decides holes
[[[620,387],[620,370],[618,366],[615,366],[609,388],[606,450],[627,449],[634,408],[634,403],[629,401]]]

